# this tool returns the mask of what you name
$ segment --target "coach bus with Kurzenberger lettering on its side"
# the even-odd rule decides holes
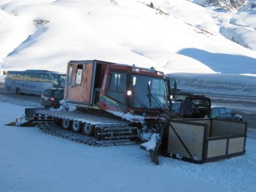
[[[42,95],[47,88],[65,88],[66,75],[49,70],[8,71],[5,88],[18,95]]]

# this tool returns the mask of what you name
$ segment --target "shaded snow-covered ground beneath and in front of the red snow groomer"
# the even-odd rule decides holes
[[[35,127],[3,125],[24,108],[0,106],[0,191],[256,190],[254,129],[248,131],[244,156],[205,164],[160,157],[156,166],[138,145],[90,147]]]

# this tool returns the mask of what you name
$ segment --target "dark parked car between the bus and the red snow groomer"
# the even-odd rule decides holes
[[[41,96],[41,105],[45,108],[59,108],[60,100],[64,97],[64,89],[50,88],[44,90]]]

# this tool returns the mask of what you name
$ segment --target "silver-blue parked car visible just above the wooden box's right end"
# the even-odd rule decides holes
[[[237,115],[234,111],[230,108],[225,107],[214,107],[211,108],[211,118],[218,118],[218,119],[228,119],[228,120],[236,120],[243,122],[243,117],[241,115]]]

